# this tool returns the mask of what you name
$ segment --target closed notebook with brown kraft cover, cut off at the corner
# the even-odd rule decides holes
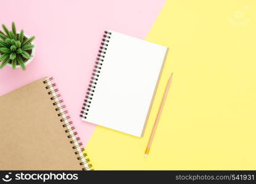
[[[0,170],[91,169],[51,80],[0,97]]]

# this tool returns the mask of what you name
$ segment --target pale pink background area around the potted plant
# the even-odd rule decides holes
[[[103,31],[144,39],[165,0],[1,1],[0,18],[10,28],[36,36],[36,55],[27,71],[0,70],[0,95],[53,76],[84,144],[95,125],[79,117]],[[1,112],[0,112],[1,113]]]

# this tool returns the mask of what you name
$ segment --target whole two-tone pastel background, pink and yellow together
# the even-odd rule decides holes
[[[254,0],[1,4],[1,23],[10,27],[15,21],[17,29],[36,36],[36,56],[26,72],[0,70],[0,95],[54,76],[82,142],[90,138],[87,151],[94,169],[256,168]],[[94,125],[79,118],[105,29],[170,48],[142,138],[102,126],[94,131]],[[144,158],[171,72],[169,96]]]

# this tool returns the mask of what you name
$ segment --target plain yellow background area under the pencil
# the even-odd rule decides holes
[[[98,126],[87,145],[96,170],[256,169],[255,5],[166,2],[146,37],[170,50],[145,134],[137,138]],[[144,158],[171,72],[169,96]]]

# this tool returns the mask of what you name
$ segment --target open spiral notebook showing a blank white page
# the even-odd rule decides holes
[[[82,120],[142,137],[167,47],[105,31]]]

